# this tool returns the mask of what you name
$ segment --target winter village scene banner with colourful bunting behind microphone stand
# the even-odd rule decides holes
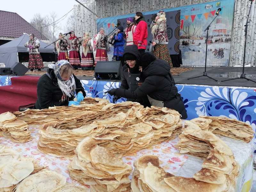
[[[180,51],[183,65],[204,66],[207,34],[204,30],[221,8],[209,28],[207,66],[228,66],[234,4],[234,0],[222,0],[181,7]]]

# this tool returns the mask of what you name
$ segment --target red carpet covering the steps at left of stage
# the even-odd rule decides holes
[[[11,85],[0,87],[0,114],[19,111],[20,106],[36,103],[39,76],[12,77]]]

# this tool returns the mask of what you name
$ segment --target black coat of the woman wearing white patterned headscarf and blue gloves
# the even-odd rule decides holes
[[[45,109],[54,106],[68,106],[68,101],[72,101],[74,96],[67,96],[66,99],[63,99],[65,97],[58,86],[58,81],[53,73],[53,69],[49,68],[47,73],[51,78],[47,74],[44,74],[37,82],[37,100],[34,108]],[[82,91],[85,97],[86,93],[80,80],[77,79],[74,74],[73,76],[76,82],[76,93]]]

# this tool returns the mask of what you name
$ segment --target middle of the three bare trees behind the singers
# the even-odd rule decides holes
[[[58,39],[58,31],[61,29],[60,25],[58,24],[58,15],[56,12],[51,12],[50,15],[46,16],[46,20],[49,23],[49,32],[51,42],[56,41]]]

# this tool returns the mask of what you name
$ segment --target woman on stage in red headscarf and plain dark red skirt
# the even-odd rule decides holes
[[[75,32],[71,31],[69,37],[69,63],[74,69],[80,68],[80,60],[78,55],[80,45],[79,40],[75,36]]]

